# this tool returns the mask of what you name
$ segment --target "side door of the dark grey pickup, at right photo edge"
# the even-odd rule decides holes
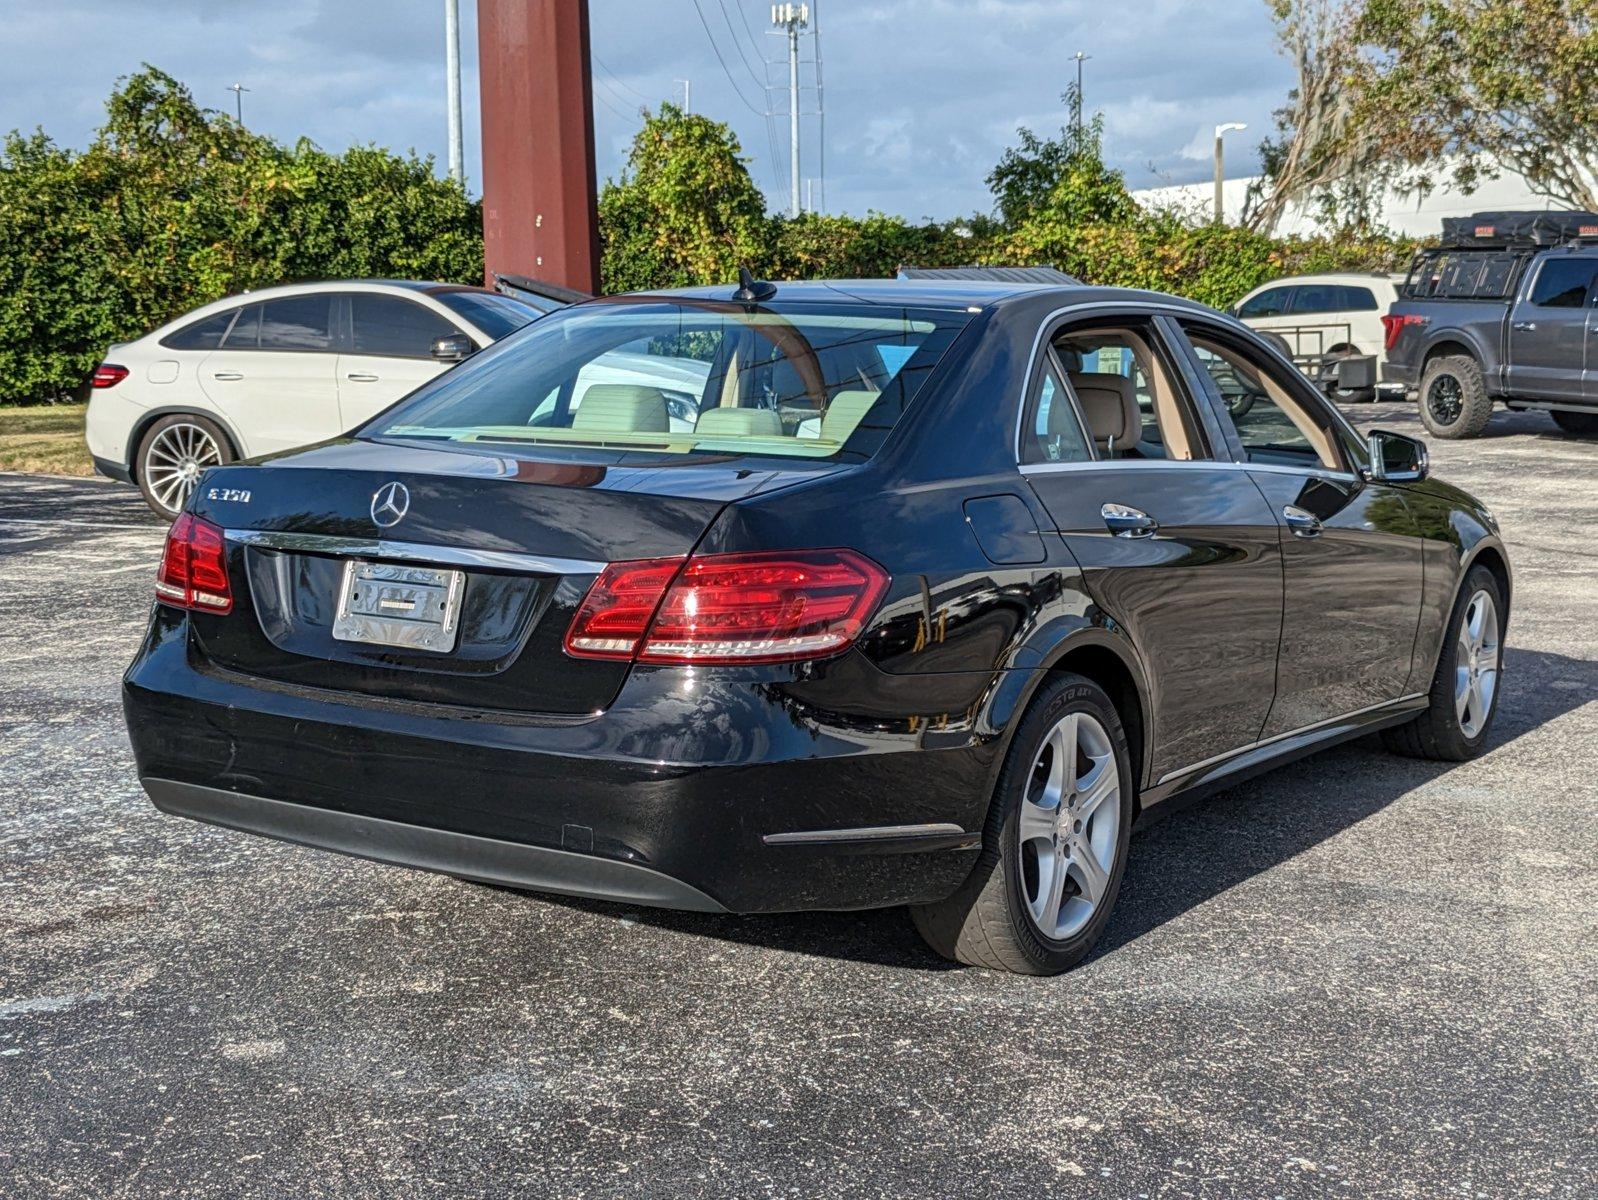
[[[1509,318],[1510,395],[1580,399],[1598,257],[1555,252],[1534,267]],[[1598,366],[1598,361],[1592,363]]]

